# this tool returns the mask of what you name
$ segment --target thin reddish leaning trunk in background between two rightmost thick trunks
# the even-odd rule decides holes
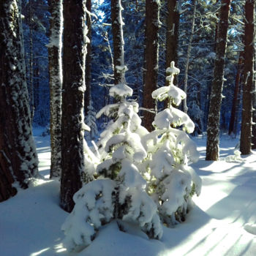
[[[244,63],[244,56],[243,56],[243,53],[240,52],[239,58],[238,58],[238,67],[236,71],[235,89],[234,89],[233,103],[232,103],[231,116],[230,116],[230,125],[228,128],[228,135],[231,135],[235,129],[235,119],[237,114],[236,106],[238,105],[238,91],[239,91],[239,85],[241,80],[240,78],[241,78],[243,63]]]

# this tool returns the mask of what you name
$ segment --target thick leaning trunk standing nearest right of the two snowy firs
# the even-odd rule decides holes
[[[219,10],[216,59],[214,62],[214,80],[211,87],[211,99],[208,113],[206,160],[217,161],[219,159],[219,117],[222,103],[222,86],[229,12],[230,0],[222,0],[222,6]]]

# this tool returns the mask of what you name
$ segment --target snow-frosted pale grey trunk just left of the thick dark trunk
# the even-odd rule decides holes
[[[49,0],[50,178],[61,176],[62,0]]]

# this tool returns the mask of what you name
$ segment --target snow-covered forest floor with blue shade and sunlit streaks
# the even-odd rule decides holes
[[[34,135],[39,172],[33,186],[0,203],[0,255],[256,255],[256,151],[233,160],[238,139],[222,135],[219,162],[206,162],[206,138],[195,138],[200,160],[193,164],[203,179],[200,197],[186,222],[164,228],[160,241],[136,227],[105,225],[93,243],[79,254],[61,246],[61,225],[67,213],[59,207],[59,181],[49,180],[50,138]],[[227,158],[226,158],[227,157]]]

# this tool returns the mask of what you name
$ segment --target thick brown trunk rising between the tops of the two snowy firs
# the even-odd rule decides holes
[[[151,97],[157,89],[158,75],[158,31],[159,31],[159,1],[146,0],[146,31],[145,31],[145,73],[143,86],[143,108],[155,110],[155,102]],[[143,126],[153,129],[154,113],[144,111]]]

